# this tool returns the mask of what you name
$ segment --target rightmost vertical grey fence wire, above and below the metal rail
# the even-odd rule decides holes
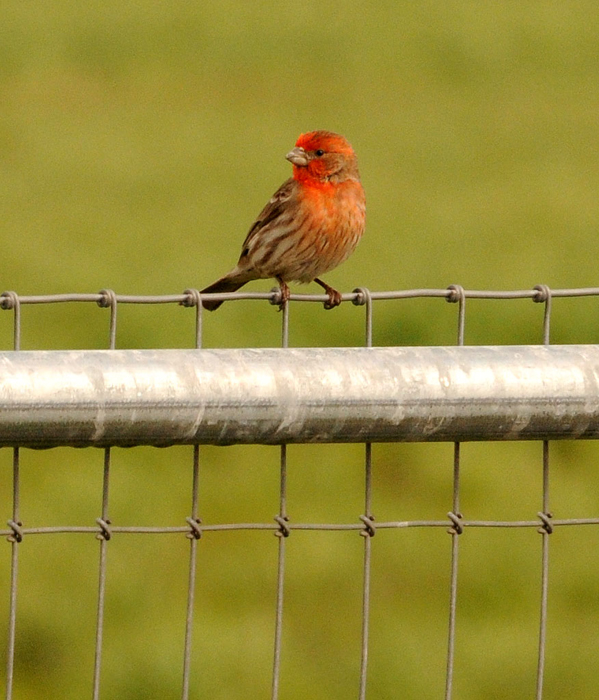
[[[549,345],[551,331],[551,289],[547,285],[535,287],[538,295],[533,301],[545,305],[543,314],[543,345]],[[551,512],[549,511],[549,442],[543,441],[543,504],[539,513],[542,526],[541,534],[541,610],[539,616],[539,648],[537,661],[536,700],[543,698],[543,683],[545,678],[545,649],[547,642],[547,598],[549,592],[549,535],[552,533]]]

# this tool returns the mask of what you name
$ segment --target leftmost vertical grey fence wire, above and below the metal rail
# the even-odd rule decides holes
[[[3,307],[12,308],[13,316],[13,348],[15,351],[21,349],[21,304],[15,292],[7,292],[3,296]],[[8,536],[11,543],[10,560],[10,594],[8,613],[8,643],[6,650],[6,700],[12,700],[14,687],[15,669],[15,642],[17,633],[17,590],[19,584],[19,543],[23,539],[21,527],[23,523],[20,518],[20,491],[21,491],[21,468],[20,451],[18,447],[13,448],[12,461],[12,518],[8,525],[12,533]]]

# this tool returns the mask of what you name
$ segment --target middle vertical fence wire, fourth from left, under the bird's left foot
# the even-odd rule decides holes
[[[281,305],[281,347],[289,347],[289,302]],[[275,517],[279,524],[276,535],[279,540],[277,564],[277,597],[275,607],[275,639],[272,669],[272,700],[278,700],[281,677],[281,643],[283,639],[283,595],[285,584],[285,539],[289,536],[287,515],[287,445],[280,447],[280,490],[279,514]]]

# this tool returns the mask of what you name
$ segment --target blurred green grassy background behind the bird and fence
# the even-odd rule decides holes
[[[343,291],[528,289],[599,283],[599,7],[518,3],[4,2],[0,8],[0,288],[20,294],[172,294],[230,269],[284,154],[316,128],[360,160],[367,234],[327,280]],[[251,285],[266,291],[270,281]],[[301,291],[295,289],[295,291]],[[317,291],[305,288],[305,291]],[[553,342],[598,342],[597,299],[555,300]],[[468,302],[469,343],[537,343],[541,305]],[[451,344],[456,307],[380,302],[377,344]],[[23,348],[106,347],[93,304],[23,308]],[[12,314],[0,312],[0,348]],[[364,311],[293,305],[292,345],[360,345]],[[226,304],[205,344],[272,346],[280,315]],[[193,313],[119,309],[117,345],[190,347]],[[451,445],[374,447],[379,520],[445,517]],[[540,444],[463,447],[469,519],[531,519]],[[556,517],[599,510],[597,447],[553,444]],[[28,526],[93,524],[99,450],[23,451]],[[181,524],[189,448],[114,450],[116,524]],[[0,451],[4,520],[12,454]],[[202,449],[204,522],[269,522],[278,451]],[[362,512],[363,447],[289,449],[296,522]],[[362,539],[288,540],[281,698],[357,696]],[[547,699],[596,698],[596,528],[551,538]],[[540,537],[461,540],[455,697],[521,700],[535,687]],[[21,546],[15,698],[91,695],[98,547],[86,535]],[[442,529],[373,540],[370,698],[442,697],[450,539]],[[188,542],[109,545],[102,697],[180,696]],[[207,534],[199,548],[192,697],[269,697],[276,578],[270,533]],[[9,547],[0,561],[6,620]],[[0,644],[5,644],[3,633]],[[3,668],[2,668],[3,671]]]

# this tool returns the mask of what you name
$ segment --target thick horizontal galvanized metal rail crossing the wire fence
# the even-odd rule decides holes
[[[599,437],[599,346],[0,353],[0,446]]]

